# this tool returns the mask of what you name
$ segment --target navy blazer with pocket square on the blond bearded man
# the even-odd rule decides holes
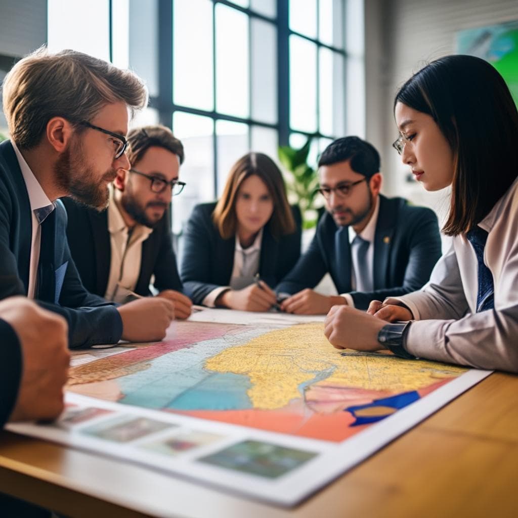
[[[117,343],[122,320],[117,308],[81,283],[66,239],[66,211],[60,200],[41,224],[35,299],[68,322],[70,347]],[[9,141],[0,143],[0,299],[27,295],[32,214],[25,181]]]

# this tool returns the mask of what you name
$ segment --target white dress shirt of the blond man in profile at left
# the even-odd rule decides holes
[[[22,171],[23,180],[25,187],[27,188],[27,194],[29,196],[29,203],[31,204],[32,213],[32,236],[31,236],[31,258],[29,266],[29,285],[27,286],[27,297],[34,298],[36,292],[36,282],[38,277],[38,263],[39,263],[39,251],[41,247],[41,227],[40,224],[44,220],[39,221],[36,217],[36,211],[38,209],[48,207],[49,205],[54,210],[54,204],[50,201],[45,191],[41,188],[38,180],[34,176],[31,168],[25,162],[24,157],[20,153],[20,150],[16,146],[15,142],[11,140],[11,144],[16,153],[16,158],[20,169]],[[48,214],[52,212],[49,210]],[[47,214],[47,215],[48,215]]]

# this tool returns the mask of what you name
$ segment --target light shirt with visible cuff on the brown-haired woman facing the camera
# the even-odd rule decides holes
[[[259,271],[261,259],[261,243],[263,241],[263,229],[258,232],[252,245],[243,248],[236,234],[236,246],[234,249],[234,267],[229,286],[219,286],[212,290],[204,299],[203,305],[213,308],[219,295],[226,290],[242,290],[254,282],[254,276]]]

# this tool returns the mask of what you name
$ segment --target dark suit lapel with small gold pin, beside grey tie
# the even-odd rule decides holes
[[[379,197],[380,210],[376,222],[374,236],[374,289],[382,290],[387,287],[387,271],[389,270],[389,257],[392,249],[392,238],[396,224],[396,207],[392,200]]]

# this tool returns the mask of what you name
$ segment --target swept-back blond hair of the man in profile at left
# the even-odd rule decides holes
[[[11,138],[18,147],[30,149],[53,117],[73,124],[90,121],[105,105],[120,101],[133,114],[147,105],[148,92],[130,70],[75,50],[52,54],[41,47],[9,71],[3,98]]]

